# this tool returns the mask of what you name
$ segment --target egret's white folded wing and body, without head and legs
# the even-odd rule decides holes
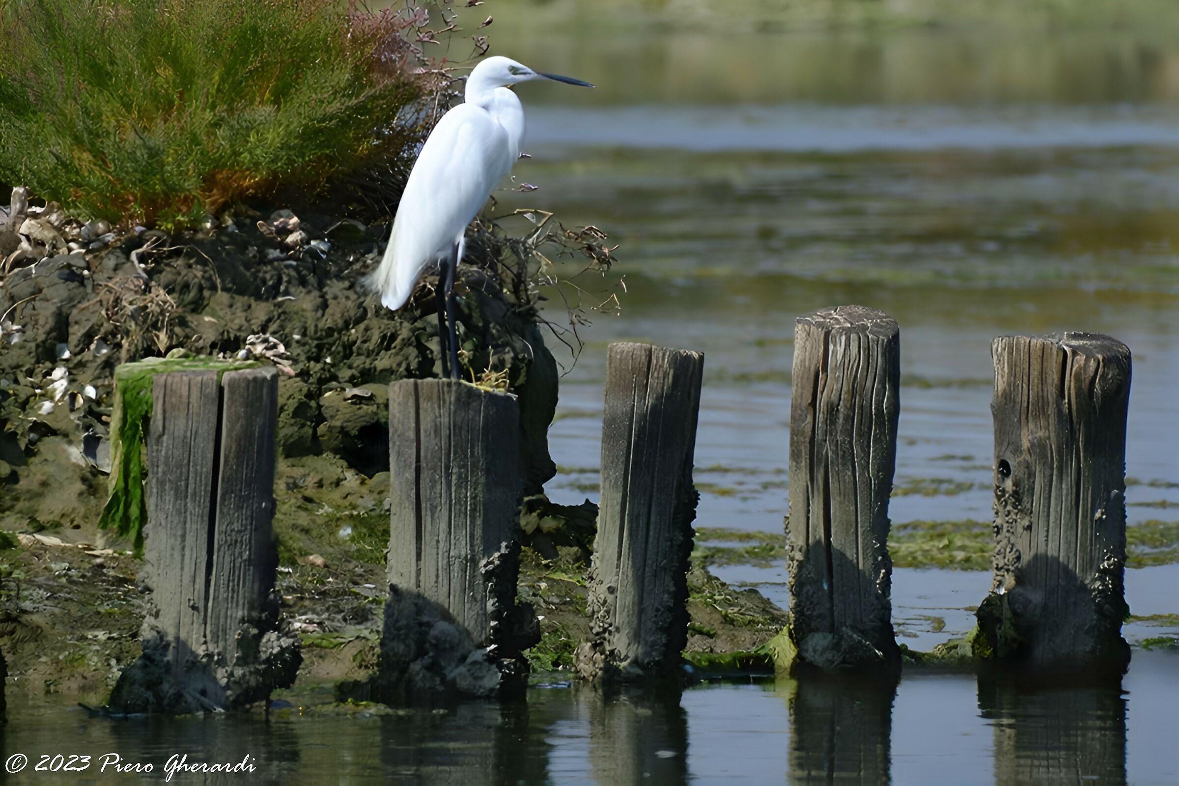
[[[373,276],[386,306],[406,304],[422,269],[450,253],[513,163],[507,133],[485,110],[460,104],[443,115],[409,173]]]

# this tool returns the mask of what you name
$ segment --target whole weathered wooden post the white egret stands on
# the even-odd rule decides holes
[[[516,603],[519,418],[515,396],[465,382],[389,385],[387,698],[494,695],[527,675],[540,628]]]

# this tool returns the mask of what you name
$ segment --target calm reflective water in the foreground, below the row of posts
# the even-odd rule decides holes
[[[12,784],[160,782],[173,754],[255,767],[182,784],[1171,784],[1177,692],[1179,658],[1137,653],[1120,685],[1069,688],[909,673],[895,691],[760,680],[605,701],[552,687],[527,705],[269,722],[18,709],[0,754],[93,757],[86,772]],[[153,772],[99,773],[111,752]]]

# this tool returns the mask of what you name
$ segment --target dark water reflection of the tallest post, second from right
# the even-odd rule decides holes
[[[887,784],[896,682],[841,674],[779,679],[790,708],[790,784]]]

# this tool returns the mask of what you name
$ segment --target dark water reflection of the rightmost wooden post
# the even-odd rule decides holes
[[[980,675],[979,709],[995,728],[996,784],[1125,784],[1121,682],[1028,686]]]

